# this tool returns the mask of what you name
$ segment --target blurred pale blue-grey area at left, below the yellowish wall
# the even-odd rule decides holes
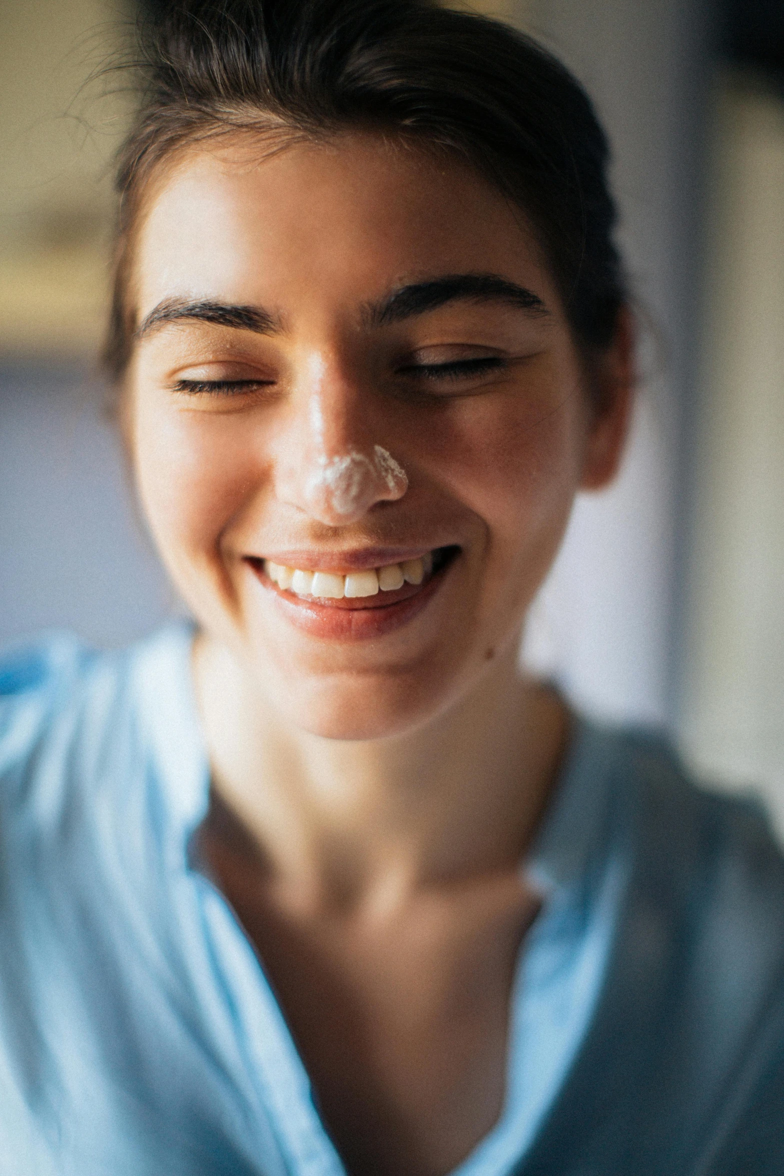
[[[115,646],[176,612],[83,368],[0,367],[0,642],[75,629]]]

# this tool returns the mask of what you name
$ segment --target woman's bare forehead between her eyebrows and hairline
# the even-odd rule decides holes
[[[552,302],[520,209],[453,156],[369,134],[189,149],[150,186],[135,247],[140,315],[221,296],[286,313],[350,307],[406,281],[491,272]]]

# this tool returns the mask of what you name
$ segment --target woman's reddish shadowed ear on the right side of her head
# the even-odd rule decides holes
[[[610,347],[594,360],[588,372],[592,392],[591,417],[585,441],[579,488],[601,490],[618,472],[629,432],[636,381],[635,316],[621,307]]]

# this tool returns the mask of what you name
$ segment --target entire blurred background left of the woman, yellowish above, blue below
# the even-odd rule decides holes
[[[127,80],[122,0],[0,0],[0,641],[116,644],[173,601],[128,494],[96,354]]]

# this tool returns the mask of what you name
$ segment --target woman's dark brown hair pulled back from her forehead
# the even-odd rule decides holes
[[[625,288],[607,138],[579,83],[530,38],[434,0],[175,0],[142,26],[141,48],[118,169],[115,380],[135,330],[128,242],[145,182],[185,146],[236,131],[284,142],[377,128],[456,153],[525,213],[578,346],[611,342]]]

